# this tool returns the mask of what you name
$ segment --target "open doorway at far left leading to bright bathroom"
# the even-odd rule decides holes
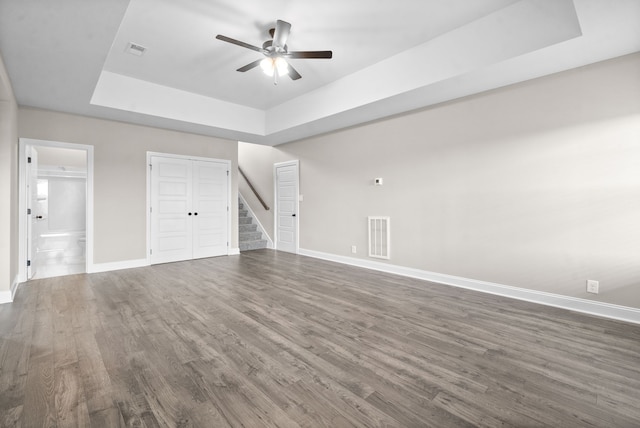
[[[21,281],[87,272],[92,148],[20,141]]]

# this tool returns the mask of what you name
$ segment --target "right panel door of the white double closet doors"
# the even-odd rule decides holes
[[[228,253],[228,169],[222,162],[192,162],[193,258]]]

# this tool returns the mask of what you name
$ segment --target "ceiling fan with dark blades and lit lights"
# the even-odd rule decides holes
[[[287,60],[331,58],[333,56],[333,52],[331,51],[289,51],[287,39],[289,38],[290,31],[291,24],[286,21],[276,21],[276,28],[269,30],[272,40],[264,42],[261,48],[221,34],[218,34],[216,39],[263,54],[265,56],[264,58],[253,61],[244,67],[240,67],[237,71],[244,73],[245,71],[249,71],[259,65],[265,74],[273,76],[273,84],[277,85],[278,77],[284,76],[285,74],[288,74],[291,80],[298,80],[302,77],[300,73],[298,73],[296,69],[287,62]]]

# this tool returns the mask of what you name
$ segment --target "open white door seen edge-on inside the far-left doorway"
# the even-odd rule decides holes
[[[38,151],[27,146],[27,279],[36,273],[38,251]]]

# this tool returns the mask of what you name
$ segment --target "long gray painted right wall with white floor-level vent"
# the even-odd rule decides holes
[[[272,206],[300,160],[303,249],[367,258],[388,215],[391,264],[640,308],[640,54],[238,158]]]

